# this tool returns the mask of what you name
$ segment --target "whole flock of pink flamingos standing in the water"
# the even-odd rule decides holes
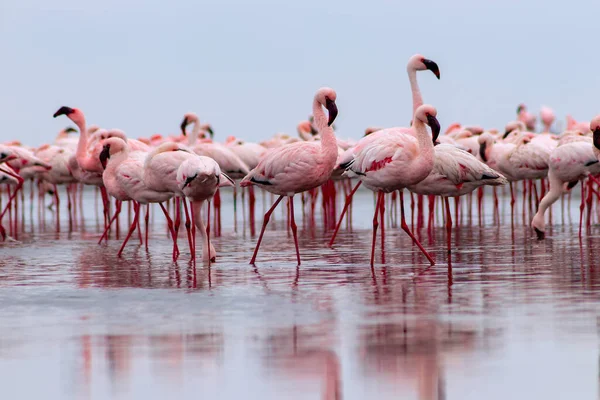
[[[413,217],[414,196],[418,199],[419,218],[423,196],[429,196],[430,220],[434,212],[431,204],[435,204],[431,199],[433,196],[442,197],[450,251],[452,216],[449,197],[458,201],[459,196],[472,194],[477,190],[481,207],[483,186],[509,184],[513,207],[515,186],[517,181],[522,181],[523,196],[529,191],[530,202],[532,197],[535,199],[537,213],[531,220],[531,228],[541,240],[545,236],[546,210],[581,181],[581,236],[586,202],[589,209],[593,195],[600,198],[593,186],[594,183],[598,184],[595,176],[600,174],[600,116],[589,123],[578,123],[568,118],[567,129],[555,134],[550,132],[554,114],[552,110],[542,108],[543,131],[535,133],[536,117],[524,105],[520,105],[516,120],[507,124],[505,130],[484,130],[453,124],[440,135],[436,108],[423,104],[417,84],[418,71],[431,71],[440,79],[440,70],[434,61],[419,54],[410,57],[407,65],[413,99],[410,127],[368,128],[365,136],[358,141],[336,138],[333,122],[338,115],[337,95],[327,87],[316,92],[311,120],[298,125],[299,137],[277,134],[260,144],[235,137],[227,138],[225,143],[213,141],[210,125],[201,124],[194,113],[184,115],[181,135],[132,139],[118,129],[87,126],[81,110],[61,107],[54,117],[68,117],[75,123],[77,130],[66,128],[58,134],[53,144],[38,148],[28,148],[19,142],[0,145],[0,183],[6,184],[5,193],[8,196],[8,202],[0,214],[0,233],[3,240],[18,234],[17,210],[19,202],[24,201],[25,181],[32,182],[32,201],[34,183],[42,198],[46,193],[53,195],[57,230],[60,229],[59,186],[66,186],[69,224],[72,227],[78,194],[82,192],[81,186],[92,185],[101,193],[104,209],[105,229],[100,242],[107,240],[113,229],[111,226],[118,224],[122,202],[127,201],[133,205],[134,217],[119,256],[136,229],[142,239],[142,205],[147,205],[147,246],[149,204],[158,203],[173,239],[173,258],[176,259],[180,254],[177,237],[183,213],[191,259],[196,259],[198,229],[202,239],[202,260],[210,264],[216,257],[214,246],[210,243],[211,200],[217,214],[214,217],[219,217],[214,220],[220,225],[219,188],[233,186],[235,206],[236,186],[239,186],[242,194],[248,195],[250,219],[253,220],[253,187],[259,186],[277,197],[264,215],[251,264],[256,261],[271,214],[281,200],[287,197],[289,229],[293,234],[297,262],[300,265],[294,195],[302,193],[303,200],[309,198],[314,211],[316,197],[321,193],[321,216],[328,226],[335,227],[330,241],[330,245],[333,245],[352,197],[362,184],[376,193],[371,266],[374,263],[379,226],[383,243],[387,193],[391,194],[389,204],[394,207],[399,200],[400,226],[433,265],[433,258],[413,234],[414,225],[411,229],[406,222],[403,197],[405,189],[411,196]],[[191,129],[188,129],[190,125]],[[78,136],[71,135],[77,131]],[[335,203],[337,193],[341,193],[339,188],[345,194],[345,204],[338,216]],[[21,196],[18,196],[19,193]],[[111,197],[115,201],[114,209],[110,204]],[[497,205],[495,188],[494,199]],[[171,215],[175,214],[173,218],[169,205],[165,206],[170,200]],[[206,210],[203,209],[204,203],[208,203]],[[7,212],[8,233],[1,225]],[[220,231],[220,226],[216,231]]]

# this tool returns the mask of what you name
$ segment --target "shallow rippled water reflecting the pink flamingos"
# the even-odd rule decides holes
[[[433,267],[386,227],[372,271],[369,192],[333,250],[297,200],[300,268],[279,210],[248,265],[256,239],[241,215],[234,232],[228,194],[210,268],[188,263],[184,233],[171,261],[154,211],[150,251],[134,238],[119,259],[120,241],[96,244],[91,195],[85,233],[54,233],[50,211],[41,229],[35,210],[32,231],[27,209],[21,242],[0,244],[3,398],[598,398],[600,228],[579,241],[575,198],[538,242],[506,198],[495,224],[487,197],[451,264],[440,214],[420,232]]]

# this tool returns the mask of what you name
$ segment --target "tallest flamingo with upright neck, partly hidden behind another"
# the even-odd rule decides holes
[[[417,108],[423,104],[423,97],[421,96],[421,90],[419,89],[419,83],[417,82],[417,71],[427,71],[427,70],[433,72],[433,74],[436,76],[436,78],[440,79],[440,69],[434,61],[431,61],[431,60],[423,57],[420,54],[415,54],[414,56],[412,56],[408,59],[408,63],[406,65],[406,72],[408,73],[408,81],[410,82],[410,89],[411,89],[412,100],[413,100],[413,109],[412,109],[412,114],[411,114],[412,118],[414,118],[414,114],[415,114],[415,111],[417,110]],[[414,127],[396,128],[396,129],[400,129],[403,132],[409,132],[413,135],[415,134]],[[372,135],[374,135],[378,132],[382,132],[382,131],[383,131],[382,129],[377,128],[377,127],[367,128],[367,130],[365,132],[365,137],[363,137],[361,140],[359,140],[358,143],[356,143],[356,145],[354,147],[346,150],[344,152],[344,154],[340,157],[340,160],[337,163],[338,165],[336,167],[336,170],[343,170],[344,168],[342,167],[342,164],[346,164],[350,160],[352,160],[353,155],[356,152],[361,151],[362,146],[364,146],[366,143],[369,143],[369,140],[370,140],[370,139],[368,139],[369,137],[371,137]],[[425,175],[425,176],[427,176],[427,175]],[[361,183],[362,183],[362,181],[359,181],[356,184],[356,186],[354,186],[354,189],[352,189],[352,191],[346,196],[344,208],[342,209],[342,213],[338,219],[338,223],[337,223],[337,226],[335,227],[335,231],[333,232],[333,235],[331,236],[331,240],[329,241],[329,247],[333,246],[333,243],[335,242],[337,233],[342,225],[342,220],[344,219],[344,215],[348,211],[348,207],[350,206],[350,203],[352,202],[352,197],[354,196],[354,193],[356,193],[356,191],[358,190]]]

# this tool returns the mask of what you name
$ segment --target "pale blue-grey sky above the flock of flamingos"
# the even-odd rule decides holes
[[[518,103],[564,119],[600,113],[598,1],[0,2],[0,141],[37,145],[62,105],[132,137],[176,132],[195,111],[217,138],[295,134],[314,92],[338,93],[341,137],[406,126],[406,61],[442,127],[501,127]]]

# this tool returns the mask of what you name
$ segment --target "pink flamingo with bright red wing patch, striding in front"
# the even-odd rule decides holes
[[[383,221],[383,195],[400,191],[400,211],[402,229],[411,237],[431,265],[435,262],[425,251],[421,243],[408,229],[404,217],[404,198],[402,189],[415,185],[427,178],[434,165],[433,143],[440,133],[440,124],[436,119],[437,110],[430,105],[417,108],[413,119],[413,129],[388,128],[366,136],[359,142],[351,160],[342,160],[346,175],[358,179],[370,190],[377,192],[377,203],[373,217],[373,243],[371,246],[371,267],[375,262],[375,242],[377,238],[377,216],[381,213]],[[425,125],[431,127],[429,136]],[[382,243],[383,246],[383,243]]]

